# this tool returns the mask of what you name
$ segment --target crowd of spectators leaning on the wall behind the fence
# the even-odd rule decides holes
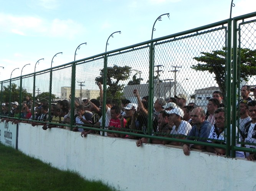
[[[192,148],[206,150],[217,155],[225,155],[226,149],[204,146],[202,142],[226,144],[226,126],[225,126],[225,104],[223,103],[223,94],[220,91],[213,92],[212,98],[208,100],[206,111],[197,107],[195,103],[187,104],[187,96],[178,94],[168,99],[158,98],[154,102],[154,112],[149,111],[149,96],[142,97],[137,89],[133,94],[137,103],[131,103],[130,100],[122,99],[121,105],[115,104],[112,100],[106,100],[103,103],[102,84],[97,84],[100,90],[99,100],[84,99],[80,102],[74,98],[74,124],[76,127],[72,131],[81,132],[82,137],[90,133],[103,134],[105,136],[117,138],[135,139],[137,147],[148,143],[149,139],[145,134],[155,135],[151,139],[153,144],[170,144],[182,146],[185,155],[190,155]],[[238,108],[238,121],[236,133],[241,146],[247,148],[256,148],[256,100],[249,97],[250,92],[254,92],[256,97],[256,87],[250,88],[245,85],[241,88],[241,100]],[[71,97],[70,97],[71,98]],[[65,128],[71,130],[71,106],[68,100],[59,100],[51,105],[49,114],[48,102],[35,103],[29,96],[22,103],[21,111],[18,102],[12,102],[11,107],[7,103],[2,103],[3,121],[12,121],[12,123],[31,123],[32,126],[42,126],[44,130],[48,128]],[[102,109],[105,108],[103,117]],[[9,108],[12,108],[9,110]],[[32,115],[31,110],[34,109]],[[152,113],[151,121],[149,114]],[[13,117],[13,118],[10,118]],[[102,117],[105,120],[102,120]],[[104,123],[103,123],[104,122]],[[149,128],[148,123],[151,126]],[[69,125],[68,125],[69,124]],[[102,125],[105,129],[114,131],[102,131]],[[99,130],[86,129],[84,127],[101,128]],[[150,129],[150,131],[149,131]],[[230,128],[232,129],[232,128]],[[132,132],[130,135],[128,132]],[[158,139],[159,137],[175,138]],[[157,138],[158,137],[158,138]],[[183,143],[181,139],[197,141],[197,144]],[[238,140],[237,139],[237,140]],[[240,146],[240,144],[236,144]],[[236,157],[256,160],[254,153],[236,151]]]

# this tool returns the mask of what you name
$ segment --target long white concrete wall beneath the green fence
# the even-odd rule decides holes
[[[18,149],[121,190],[254,190],[256,163],[182,149],[20,124]]]

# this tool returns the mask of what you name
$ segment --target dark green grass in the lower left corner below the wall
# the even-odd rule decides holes
[[[115,190],[101,181],[84,180],[0,144],[0,190]]]

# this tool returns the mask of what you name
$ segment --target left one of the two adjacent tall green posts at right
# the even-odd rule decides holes
[[[227,87],[226,87],[226,156],[230,156],[230,124],[231,124],[231,36],[232,19],[228,20],[228,43],[227,43]]]

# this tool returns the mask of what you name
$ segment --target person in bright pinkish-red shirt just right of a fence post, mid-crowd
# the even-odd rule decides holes
[[[124,131],[123,129],[120,129],[121,123],[122,123],[122,127],[126,126],[126,119],[124,118],[124,116],[121,115],[121,108],[118,105],[113,105],[110,109],[110,114],[111,114],[111,119],[109,121],[108,129],[115,130],[115,131]],[[107,132],[107,136],[124,138],[126,135]]]

